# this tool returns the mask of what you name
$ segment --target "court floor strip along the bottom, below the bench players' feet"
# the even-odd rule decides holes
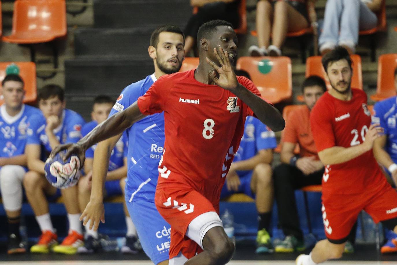
[[[230,265],[294,265],[297,253],[274,253],[268,255],[257,255],[254,253],[254,245],[237,244],[236,253]],[[310,250],[305,251],[309,253]],[[62,255],[62,254],[19,254],[7,255],[6,245],[0,244],[0,265],[21,265],[21,264],[51,264],[51,265],[91,265],[91,264],[153,264],[146,257],[145,253],[137,255],[123,255],[117,252],[96,253],[91,255]],[[375,245],[355,246],[355,253],[344,255],[339,261],[328,261],[327,265],[397,265],[397,253],[380,255]]]

